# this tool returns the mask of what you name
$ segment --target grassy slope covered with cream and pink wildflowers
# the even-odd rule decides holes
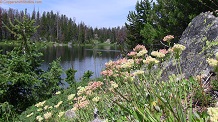
[[[167,36],[164,40],[170,43],[172,38]],[[20,118],[51,122],[215,122],[217,109],[211,106],[211,101],[195,104],[199,90],[202,92],[200,97],[207,98],[199,78],[178,78],[182,74],[179,62],[178,73],[169,76],[168,81],[161,80],[161,62],[168,56],[179,60],[185,48],[174,44],[168,50],[153,51],[149,55],[143,45],[137,45],[127,57],[106,63],[100,81],[90,81],[73,93],[59,92],[54,96],[55,100],[32,106]],[[207,61],[211,66],[217,66],[214,60]]]

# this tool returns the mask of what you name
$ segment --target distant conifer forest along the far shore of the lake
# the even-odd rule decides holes
[[[90,27],[84,22],[76,22],[76,18],[69,18],[61,13],[53,11],[40,13],[33,10],[31,14],[25,11],[18,11],[15,9],[0,8],[0,21],[5,25],[9,25],[9,19],[13,24],[15,19],[22,20],[23,16],[27,13],[27,17],[32,20],[35,19],[36,26],[39,26],[37,32],[32,37],[34,41],[52,41],[59,43],[92,43],[93,40],[99,42],[110,41],[120,42],[125,39],[126,28],[97,28]],[[6,28],[3,23],[0,25],[0,40],[14,40],[15,37]]]

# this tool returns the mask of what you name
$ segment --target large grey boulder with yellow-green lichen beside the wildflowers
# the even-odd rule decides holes
[[[218,17],[212,12],[196,16],[183,32],[179,44],[186,46],[181,54],[183,76],[208,75],[213,68],[206,62],[218,52]],[[171,60],[164,63],[163,78],[176,74],[176,66]]]

